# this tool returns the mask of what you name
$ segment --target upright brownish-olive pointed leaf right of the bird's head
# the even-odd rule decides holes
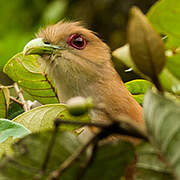
[[[156,82],[158,74],[165,65],[164,44],[146,16],[136,7],[131,9],[128,41],[137,68]]]

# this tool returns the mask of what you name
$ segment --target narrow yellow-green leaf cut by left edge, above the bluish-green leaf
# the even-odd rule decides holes
[[[6,118],[9,108],[9,89],[5,86],[0,87],[0,118]]]

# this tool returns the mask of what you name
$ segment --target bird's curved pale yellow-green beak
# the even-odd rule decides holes
[[[55,50],[64,49],[63,47],[59,47],[52,44],[46,44],[44,43],[42,38],[36,38],[31,41],[29,41],[24,49],[23,54],[24,55],[30,55],[30,54],[52,54]]]

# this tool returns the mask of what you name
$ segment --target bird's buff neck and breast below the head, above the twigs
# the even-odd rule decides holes
[[[128,115],[142,123],[142,108],[124,86],[111,62],[101,66],[76,65],[59,61],[51,65],[50,76],[54,80],[61,102],[74,96],[92,97],[94,104],[104,104],[105,110],[115,117]],[[66,67],[68,66],[68,67]],[[56,68],[58,67],[58,68]],[[59,68],[63,67],[63,68]],[[71,67],[71,68],[70,68]],[[94,113],[94,121],[107,119],[103,113]]]

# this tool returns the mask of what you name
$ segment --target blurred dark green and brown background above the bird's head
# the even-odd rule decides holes
[[[129,8],[144,13],[157,0],[0,0],[0,71],[34,37],[39,27],[64,20],[81,20],[98,32],[112,50],[126,42]]]

